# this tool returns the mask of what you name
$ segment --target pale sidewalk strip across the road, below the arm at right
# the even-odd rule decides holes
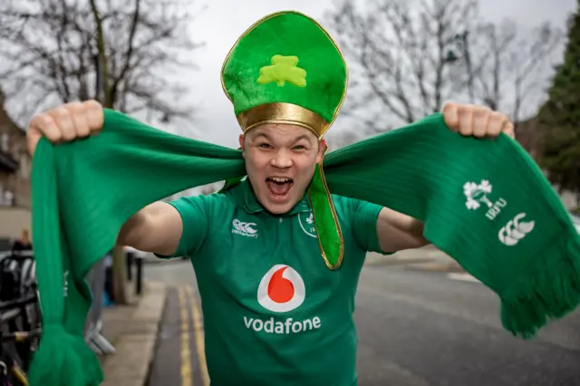
[[[436,246],[423,246],[408,249],[390,256],[370,252],[366,256],[365,265],[404,265],[407,269],[440,272],[464,272],[463,268]]]

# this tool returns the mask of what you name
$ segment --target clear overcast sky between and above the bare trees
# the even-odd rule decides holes
[[[249,25],[266,14],[295,10],[322,19],[324,11],[332,9],[333,0],[211,0],[208,7],[192,24],[191,33],[206,45],[195,53],[199,70],[183,79],[190,85],[193,101],[198,102],[198,134],[229,147],[237,147],[239,128],[231,104],[221,89],[221,65],[237,37]],[[485,0],[480,2],[480,14],[489,21],[504,17],[518,24],[533,27],[550,21],[565,26],[565,17],[575,10],[575,0]]]

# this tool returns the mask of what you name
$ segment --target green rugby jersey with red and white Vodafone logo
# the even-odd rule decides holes
[[[381,207],[333,197],[343,265],[320,254],[307,196],[275,216],[248,180],[225,193],[179,198],[174,256],[198,279],[212,386],[356,384],[354,296],[367,251],[381,252]]]

